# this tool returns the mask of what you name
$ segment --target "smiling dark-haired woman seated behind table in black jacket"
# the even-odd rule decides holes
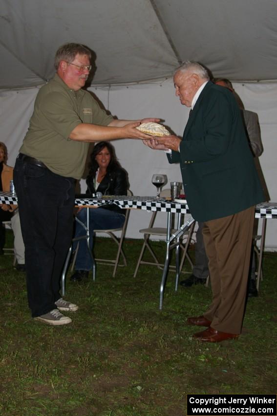
[[[89,173],[86,178],[87,194],[101,192],[103,195],[126,195],[128,189],[127,174],[117,161],[114,147],[108,141],[97,143],[90,155]],[[86,224],[86,209],[79,208],[77,218]],[[125,221],[125,210],[116,205],[89,209],[90,249],[93,244],[93,231],[120,228]],[[84,228],[76,221],[74,237],[85,235]],[[74,249],[77,243],[74,243]],[[92,269],[91,258],[87,250],[86,240],[79,241],[79,249],[75,263],[75,273],[71,280],[80,281],[88,276]]]

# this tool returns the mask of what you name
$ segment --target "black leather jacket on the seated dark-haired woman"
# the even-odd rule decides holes
[[[95,190],[94,188],[94,177],[88,176],[86,178],[86,185],[87,194],[102,192],[103,195],[127,195],[127,174],[124,169],[116,168],[111,172],[107,172],[107,174],[99,184],[97,190]],[[111,211],[116,211],[120,214],[125,215],[125,210],[118,208],[116,205],[106,205],[101,208],[106,208]]]

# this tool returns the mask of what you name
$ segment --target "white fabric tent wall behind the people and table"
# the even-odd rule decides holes
[[[248,110],[259,116],[264,152],[259,161],[268,187],[271,201],[277,201],[277,84],[233,83],[235,91],[241,97]],[[89,89],[101,100],[107,110],[118,118],[160,117],[163,123],[176,134],[183,134],[189,109],[180,105],[175,97],[172,79],[149,83],[91,87]],[[28,128],[33,104],[38,88],[18,91],[0,91],[0,141],[8,147],[10,165],[14,165],[22,139]],[[162,151],[153,151],[140,140],[114,140],[117,157],[128,171],[130,189],[135,195],[154,195],[151,184],[153,173],[163,173],[170,181],[181,181],[178,165],[170,165]],[[85,183],[82,182],[85,189]],[[131,211],[127,237],[141,238],[139,229],[149,222],[149,213]],[[266,233],[266,249],[277,249],[277,221],[269,220]],[[165,224],[165,217],[160,224]]]

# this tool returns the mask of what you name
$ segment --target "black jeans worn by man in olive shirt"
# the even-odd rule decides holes
[[[25,245],[32,316],[56,309],[60,277],[71,244],[75,180],[17,159],[14,185]]]

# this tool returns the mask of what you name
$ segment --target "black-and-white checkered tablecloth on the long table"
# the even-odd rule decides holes
[[[9,192],[0,192],[2,204],[17,204],[16,195]],[[152,196],[111,196],[97,198],[76,198],[75,205],[100,207],[107,204],[115,204],[120,208],[143,209],[146,211],[162,211],[188,214],[190,209],[187,202],[172,202],[165,198],[155,198]],[[277,218],[277,202],[258,204],[255,209],[256,218]]]

